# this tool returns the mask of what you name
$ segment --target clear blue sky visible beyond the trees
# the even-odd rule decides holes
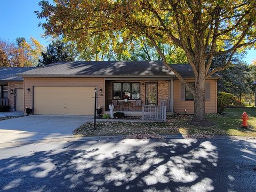
[[[39,0],[0,0],[0,38],[15,43],[17,37],[36,38],[41,44],[49,44],[50,38],[42,37],[44,31],[34,11],[40,10]],[[248,50],[244,58],[250,64],[256,58],[256,50]]]

